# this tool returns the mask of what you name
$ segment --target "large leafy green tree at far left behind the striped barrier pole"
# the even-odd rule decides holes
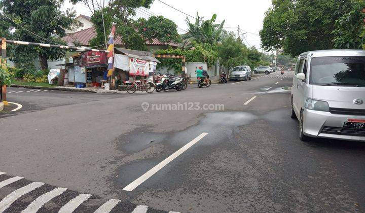
[[[77,22],[75,12],[60,11],[62,4],[63,0],[3,0],[0,7],[3,8],[3,13],[13,20],[10,24],[11,28],[15,29],[10,38],[35,43],[65,44],[60,38],[66,34],[67,29],[73,29]],[[37,37],[19,25],[45,39]],[[34,57],[38,56],[43,69],[48,68],[47,60],[60,59],[65,55],[65,50],[59,48],[18,45],[10,49],[11,60],[15,63],[30,64],[34,61]]]

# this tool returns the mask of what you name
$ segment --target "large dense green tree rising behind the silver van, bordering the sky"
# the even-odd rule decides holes
[[[293,57],[309,50],[332,49],[334,25],[350,1],[273,0],[260,31],[262,47],[283,48]]]

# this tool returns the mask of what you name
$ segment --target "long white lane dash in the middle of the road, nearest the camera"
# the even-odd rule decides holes
[[[160,169],[162,169],[164,166],[166,166],[168,163],[170,163],[173,159],[177,158],[179,155],[187,151],[190,147],[192,147],[194,144],[196,144],[200,139],[202,139],[205,135],[207,135],[207,132],[201,133],[199,136],[194,138],[192,141],[190,141],[187,145],[184,147],[181,147],[179,150],[174,152],[172,155],[167,157],[165,160],[161,161],[161,163],[154,166],[152,169],[150,169],[148,172],[144,173],[142,176],[138,177],[135,181],[130,183],[128,186],[124,187],[123,190],[125,191],[132,191],[137,186],[139,186],[141,183],[149,179],[152,175],[154,175],[156,172],[158,172]]]

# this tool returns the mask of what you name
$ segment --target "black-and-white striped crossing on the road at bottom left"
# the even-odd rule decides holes
[[[103,200],[42,182],[32,182],[21,176],[0,171],[0,213],[3,212],[176,212],[161,211],[147,205],[136,205],[118,199]],[[178,213],[178,212],[176,212]]]

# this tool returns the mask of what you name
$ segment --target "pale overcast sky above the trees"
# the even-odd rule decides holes
[[[100,0],[102,1],[102,0]],[[133,1],[133,0],[132,0]],[[240,26],[242,32],[245,34],[246,40],[243,42],[247,46],[260,47],[259,31],[262,29],[262,22],[264,19],[264,13],[269,7],[271,7],[271,0],[161,0],[162,2],[173,6],[174,8],[185,12],[189,15],[196,16],[199,11],[199,16],[203,16],[204,19],[210,19],[211,16],[217,14],[217,23],[220,23],[224,19],[226,20],[226,30],[234,31],[237,34],[237,25]],[[106,1],[105,1],[106,2]],[[90,15],[90,10],[83,4],[73,6],[65,1],[63,10],[66,8],[74,7],[76,12],[80,15]],[[143,11],[144,10],[144,11]],[[171,19],[178,26],[179,33],[184,33],[187,30],[185,22],[186,15],[164,5],[163,3],[155,0],[150,9],[137,10],[137,17],[148,18],[151,14],[162,15],[165,18]],[[193,18],[190,17],[193,21]],[[241,35],[241,39],[242,39]],[[247,44],[248,43],[248,44]]]

